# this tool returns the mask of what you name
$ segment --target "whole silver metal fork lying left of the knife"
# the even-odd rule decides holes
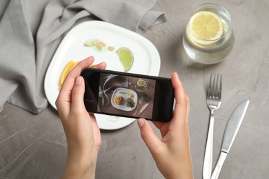
[[[206,94],[206,103],[210,109],[210,123],[208,138],[206,141],[206,152],[203,159],[203,179],[209,179],[212,172],[212,149],[214,131],[214,112],[221,105],[221,74],[211,74]]]

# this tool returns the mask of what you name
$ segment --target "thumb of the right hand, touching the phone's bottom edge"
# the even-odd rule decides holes
[[[146,143],[152,156],[155,156],[154,151],[157,149],[157,146],[161,145],[161,140],[155,134],[155,131],[152,129],[146,119],[139,118],[137,120],[137,124],[139,125],[141,131],[141,138],[144,140],[144,143]]]

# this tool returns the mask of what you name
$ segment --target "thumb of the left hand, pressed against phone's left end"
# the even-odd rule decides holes
[[[81,111],[84,109],[84,92],[85,92],[85,84],[83,83],[82,76],[77,76],[74,81],[74,88],[72,89],[72,110]]]

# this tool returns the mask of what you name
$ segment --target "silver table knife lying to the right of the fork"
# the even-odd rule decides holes
[[[230,147],[232,147],[235,136],[237,136],[237,131],[239,130],[243,117],[248,109],[248,104],[249,100],[242,101],[239,105],[237,105],[228,120],[221,145],[221,154],[219,154],[219,159],[217,160],[215,169],[212,172],[211,179],[217,179],[219,177],[223,163],[230,151]]]

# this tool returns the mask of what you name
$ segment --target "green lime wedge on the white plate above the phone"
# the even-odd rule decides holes
[[[119,60],[123,65],[124,71],[128,72],[132,67],[132,63],[134,63],[134,56],[132,51],[128,48],[119,48],[116,51],[116,54],[119,56]]]

